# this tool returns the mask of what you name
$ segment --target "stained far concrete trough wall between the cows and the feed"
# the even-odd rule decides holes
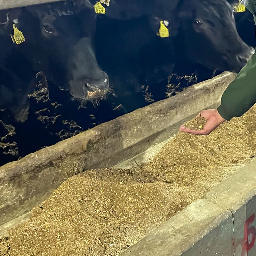
[[[68,177],[111,167],[169,139],[200,110],[216,107],[234,78],[224,72],[0,167],[0,226],[30,211]]]

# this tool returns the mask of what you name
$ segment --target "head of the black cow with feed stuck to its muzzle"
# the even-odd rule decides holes
[[[94,54],[94,10],[72,1],[29,9],[40,20],[41,45],[48,54],[54,83],[83,102],[103,98],[108,91],[108,75]]]

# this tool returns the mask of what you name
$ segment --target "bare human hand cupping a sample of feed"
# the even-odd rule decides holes
[[[193,135],[209,135],[220,124],[222,124],[223,122],[226,121],[222,116],[220,116],[217,109],[203,110],[200,113],[200,115],[203,116],[207,120],[206,124],[204,125],[204,129],[198,130],[198,131],[193,131],[193,130],[190,130],[189,128],[185,128],[184,125],[181,125],[180,131],[187,132],[187,133],[193,134]],[[197,115],[197,116],[199,116],[199,115]]]

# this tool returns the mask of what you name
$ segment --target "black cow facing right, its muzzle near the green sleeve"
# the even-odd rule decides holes
[[[156,35],[160,21],[169,37]],[[210,69],[238,72],[254,52],[239,37],[226,0],[180,1],[166,20],[142,16],[117,21],[101,15],[96,30],[96,57],[117,95],[138,95],[142,84],[167,77],[172,64],[185,58]],[[131,105],[130,110],[136,108]]]

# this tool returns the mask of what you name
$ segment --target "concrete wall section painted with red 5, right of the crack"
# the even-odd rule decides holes
[[[234,255],[256,255],[256,160],[221,182],[205,198],[232,212]]]

